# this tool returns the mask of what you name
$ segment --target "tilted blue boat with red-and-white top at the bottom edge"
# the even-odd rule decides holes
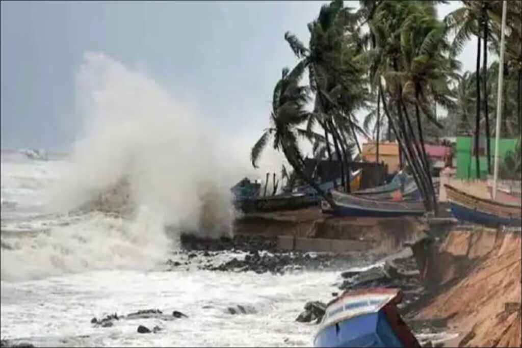
[[[315,347],[420,347],[401,319],[395,289],[349,292],[326,308]]]

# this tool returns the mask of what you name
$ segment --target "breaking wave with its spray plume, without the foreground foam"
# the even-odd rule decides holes
[[[230,141],[155,81],[103,54],[86,54],[76,81],[80,131],[69,158],[60,166],[18,163],[6,175],[11,164],[2,164],[2,181],[12,182],[3,196],[31,181],[35,189],[23,197],[38,193],[53,214],[14,223],[3,213],[2,280],[151,269],[168,258],[179,231],[232,233],[230,187],[248,161]],[[23,182],[9,173],[22,173]],[[23,206],[14,203],[15,212]]]

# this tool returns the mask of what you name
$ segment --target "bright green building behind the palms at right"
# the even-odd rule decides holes
[[[481,139],[483,143],[485,139]],[[506,153],[514,151],[517,146],[518,139],[500,139],[499,155],[501,159],[506,157]],[[491,165],[494,165],[495,158],[495,139],[491,139]],[[485,146],[481,146],[482,150],[479,152],[480,161],[480,178],[488,177],[488,161],[485,156]],[[477,170],[474,156],[474,143],[472,137],[457,137],[455,147],[455,157],[457,159],[457,173],[458,179],[476,179]]]

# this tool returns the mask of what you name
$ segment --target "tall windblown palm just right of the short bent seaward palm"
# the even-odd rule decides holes
[[[331,137],[340,162],[341,183],[347,191],[350,190],[348,162],[351,158],[347,140],[357,142],[357,131],[362,131],[353,113],[365,100],[361,83],[363,70],[354,60],[358,46],[346,35],[348,30],[353,31],[355,21],[356,16],[350,9],[336,0],[324,5],[317,19],[309,23],[308,48],[295,35],[285,34],[292,51],[301,59],[300,64],[307,68],[310,88],[315,95],[314,112],[307,129],[315,124],[323,128],[330,163],[333,158]]]

